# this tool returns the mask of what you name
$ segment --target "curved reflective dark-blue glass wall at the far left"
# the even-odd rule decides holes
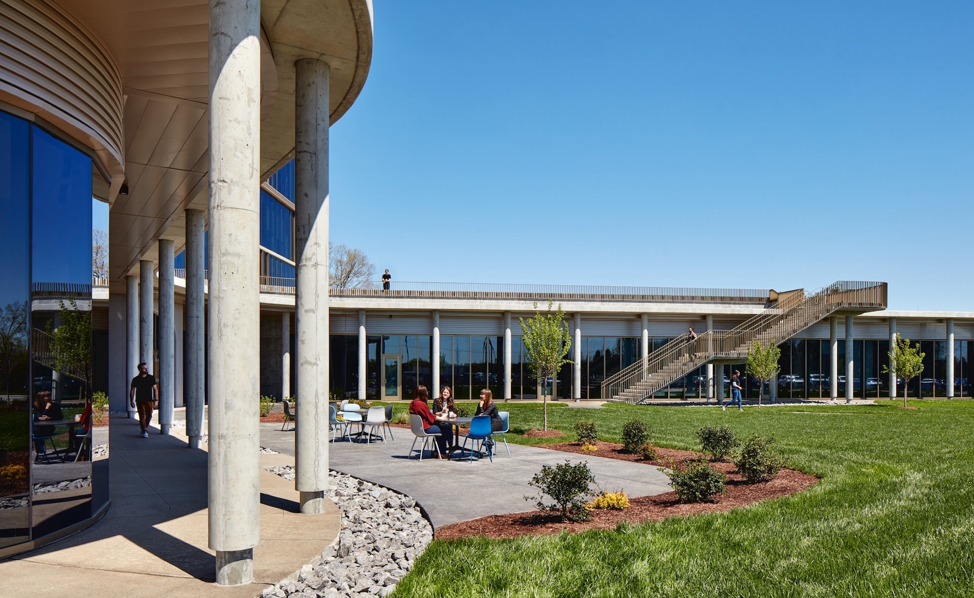
[[[92,160],[0,113],[0,548],[108,500],[92,418]],[[103,347],[98,343],[97,346]],[[94,430],[97,426],[100,430]]]

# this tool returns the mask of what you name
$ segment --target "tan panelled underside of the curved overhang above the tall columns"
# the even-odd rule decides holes
[[[207,0],[59,0],[108,49],[122,74],[128,196],[112,197],[110,280],[155,242],[184,243],[183,212],[206,208]],[[331,68],[330,121],[355,102],[372,58],[371,0],[261,2],[264,177],[294,154],[294,63]],[[117,188],[118,185],[115,185]],[[121,287],[119,288],[121,290]]]

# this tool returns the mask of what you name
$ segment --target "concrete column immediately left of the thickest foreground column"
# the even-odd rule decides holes
[[[206,404],[206,212],[186,210],[186,435],[200,448]]]

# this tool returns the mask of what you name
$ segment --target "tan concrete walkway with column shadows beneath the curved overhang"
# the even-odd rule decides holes
[[[207,547],[206,451],[185,436],[158,429],[138,436],[135,420],[112,417],[108,513],[91,528],[0,562],[0,595],[238,598],[258,595],[291,576],[338,538],[340,515],[297,512],[294,483],[261,470],[260,544],[254,549],[254,583],[221,588],[213,581]],[[262,455],[261,467],[293,463]],[[11,592],[11,593],[8,593]]]

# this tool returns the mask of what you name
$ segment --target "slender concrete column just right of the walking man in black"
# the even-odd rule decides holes
[[[169,434],[172,430],[172,407],[175,400],[175,290],[173,243],[159,240],[159,430]]]

